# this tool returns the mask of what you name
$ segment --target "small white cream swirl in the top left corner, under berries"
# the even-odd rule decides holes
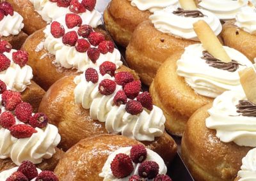
[[[4,16],[3,20],[0,21],[0,35],[10,36],[19,34],[21,29],[24,27],[22,21],[22,16],[20,16],[16,11],[13,12],[12,16]]]

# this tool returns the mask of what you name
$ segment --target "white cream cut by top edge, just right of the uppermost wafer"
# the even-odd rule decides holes
[[[247,6],[248,0],[202,0],[198,6],[211,11],[221,20],[230,20],[242,7]]]

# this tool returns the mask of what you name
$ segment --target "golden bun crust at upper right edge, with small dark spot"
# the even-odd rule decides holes
[[[246,55],[250,61],[256,57],[256,35],[247,33],[234,25],[235,20],[225,22],[221,32],[224,44]]]

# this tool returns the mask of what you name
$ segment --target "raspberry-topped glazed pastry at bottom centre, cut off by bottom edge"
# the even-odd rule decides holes
[[[140,144],[114,134],[86,138],[68,150],[54,173],[60,180],[129,180],[131,177],[141,178],[139,174],[148,180],[164,177],[167,168],[163,159]],[[145,166],[152,168],[143,171]],[[168,176],[165,178],[171,180]]]

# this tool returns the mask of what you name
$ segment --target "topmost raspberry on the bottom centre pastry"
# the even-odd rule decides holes
[[[147,149],[143,145],[134,145],[130,151],[134,163],[142,163],[147,158]]]

